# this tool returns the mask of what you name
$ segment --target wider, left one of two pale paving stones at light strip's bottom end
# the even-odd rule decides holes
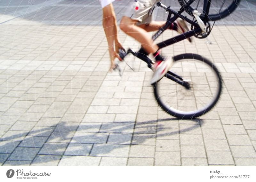
[[[58,166],[99,166],[101,157],[63,156]]]

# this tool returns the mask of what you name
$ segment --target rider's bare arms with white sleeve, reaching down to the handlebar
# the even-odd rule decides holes
[[[102,25],[108,41],[108,52],[110,56],[110,68],[112,71],[115,68],[114,60],[117,58],[122,60],[118,55],[118,50],[124,50],[122,44],[118,39],[116,14],[112,5],[115,0],[100,0],[100,4],[103,12]]]

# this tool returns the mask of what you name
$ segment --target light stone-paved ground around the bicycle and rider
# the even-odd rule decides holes
[[[118,20],[125,5],[115,3]],[[256,3],[244,0],[216,23],[213,45],[164,49],[202,54],[223,75],[217,107],[190,121],[157,106],[139,59],[135,72],[125,64],[122,77],[107,72],[97,0],[0,1],[0,165],[256,166],[255,14]],[[120,39],[139,46],[121,31]]]

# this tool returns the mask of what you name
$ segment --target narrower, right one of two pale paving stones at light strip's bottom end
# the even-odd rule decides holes
[[[127,158],[124,157],[102,157],[100,166],[126,166]]]

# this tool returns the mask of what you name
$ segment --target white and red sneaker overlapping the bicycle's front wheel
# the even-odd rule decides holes
[[[154,68],[156,71],[151,78],[150,84],[153,85],[154,83],[161,80],[173,64],[174,61],[172,58],[167,58],[164,61],[156,61],[156,63],[154,64]]]

